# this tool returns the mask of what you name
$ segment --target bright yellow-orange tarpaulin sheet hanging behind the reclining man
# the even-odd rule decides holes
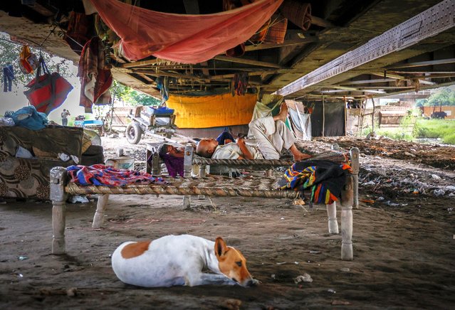
[[[249,124],[256,95],[234,96],[231,93],[212,96],[170,95],[167,107],[175,110],[179,128],[209,128]]]

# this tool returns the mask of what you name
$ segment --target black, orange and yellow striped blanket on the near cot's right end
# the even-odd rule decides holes
[[[348,171],[351,172],[349,165],[333,161],[299,161],[286,170],[278,186],[301,191],[302,196],[303,191],[309,189],[310,203],[330,204],[340,198]]]

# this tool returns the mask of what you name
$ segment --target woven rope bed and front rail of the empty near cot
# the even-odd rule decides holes
[[[221,197],[298,198],[292,190],[277,189],[276,178],[169,178],[169,184],[132,184],[127,186],[81,186],[70,182],[65,192],[72,195],[135,194],[135,195],[206,195]]]

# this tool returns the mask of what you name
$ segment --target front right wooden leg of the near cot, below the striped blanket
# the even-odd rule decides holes
[[[341,260],[352,260],[352,176],[341,191]]]

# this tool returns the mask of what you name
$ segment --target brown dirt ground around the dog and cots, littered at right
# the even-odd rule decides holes
[[[147,140],[137,146],[124,142],[103,138],[107,156],[121,145],[125,154],[143,160]],[[93,230],[92,197],[90,203],[67,205],[68,254],[56,256],[50,254],[51,203],[6,201],[0,205],[0,304],[4,309],[453,309],[455,149],[345,137],[305,145],[318,151],[334,142],[345,149],[358,146],[362,154],[352,262],[340,260],[341,237],[328,234],[323,206],[192,198],[192,210],[182,210],[180,196],[115,196],[104,228]],[[440,154],[444,159],[436,158]],[[224,237],[243,252],[261,283],[248,289],[144,289],[115,277],[110,255],[121,242],[183,233]],[[296,283],[305,273],[313,282]]]

